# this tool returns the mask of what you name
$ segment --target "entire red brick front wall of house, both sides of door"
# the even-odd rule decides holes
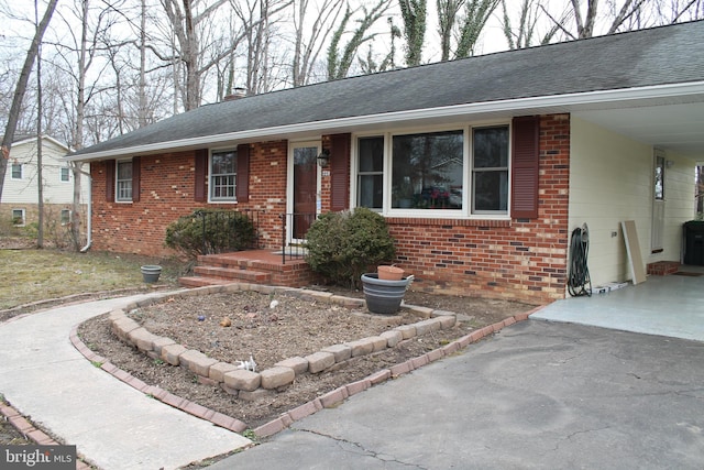
[[[287,146],[286,141],[251,146],[250,200],[237,207],[261,211],[262,248],[280,247]],[[531,303],[563,298],[569,163],[569,114],[542,117],[539,217],[501,221],[388,218],[397,240],[397,264],[416,276],[414,287],[419,289]],[[194,201],[194,171],[193,152],[143,156],[140,203],[117,204],[106,203],[105,163],[91,164],[94,248],[173,254],[164,248],[168,223],[198,207],[228,207]],[[321,187],[326,210],[330,207],[329,176],[322,177]]]

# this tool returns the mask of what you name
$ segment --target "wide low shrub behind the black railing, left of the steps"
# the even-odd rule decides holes
[[[205,227],[204,227],[205,225]],[[196,210],[166,228],[166,247],[189,258],[250,248],[256,240],[256,228],[242,212]]]

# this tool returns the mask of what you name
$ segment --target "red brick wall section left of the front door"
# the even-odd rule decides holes
[[[286,212],[286,141],[252,145],[250,152],[250,199],[243,204],[205,204],[194,200],[195,153],[179,152],[142,156],[139,203],[106,203],[106,164],[91,164],[92,247],[121,253],[167,256],[166,227],[201,207],[260,211],[262,248],[280,247]]]

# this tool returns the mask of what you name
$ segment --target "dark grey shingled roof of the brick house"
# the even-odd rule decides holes
[[[704,80],[704,21],[502,52],[240,98],[160,121],[70,155],[169,150],[277,129],[333,129],[351,118],[382,119],[526,98],[629,90]],[[227,139],[226,139],[227,138]]]

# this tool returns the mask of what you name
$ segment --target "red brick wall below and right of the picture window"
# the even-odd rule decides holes
[[[563,298],[569,163],[569,114],[542,117],[538,219],[388,218],[397,265],[416,276],[416,289],[531,303]]]

